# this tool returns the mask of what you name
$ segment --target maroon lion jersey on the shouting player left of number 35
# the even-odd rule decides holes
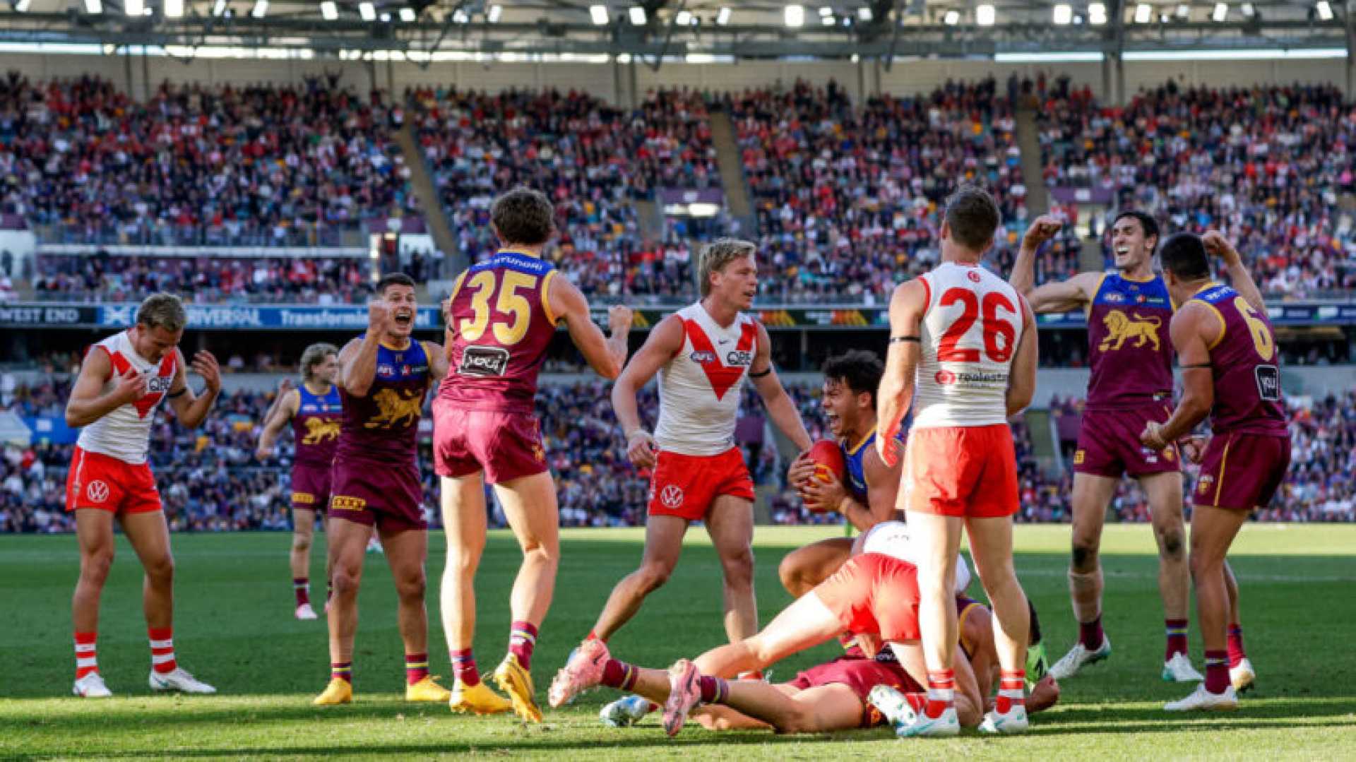
[[[367,395],[355,397],[339,389],[343,424],[335,461],[416,462],[428,373],[422,342],[411,340],[404,348],[377,347],[377,374]]]

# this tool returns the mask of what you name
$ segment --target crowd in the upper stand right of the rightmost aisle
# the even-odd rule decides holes
[[[1043,95],[1044,182],[1098,187],[1169,230],[1216,228],[1264,292],[1356,287],[1356,107],[1333,85],[1180,88],[1124,108],[1058,80]]]

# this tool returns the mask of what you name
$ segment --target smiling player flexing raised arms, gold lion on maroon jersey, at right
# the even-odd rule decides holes
[[[1073,556],[1069,595],[1078,620],[1078,643],[1050,673],[1070,678],[1085,664],[1111,655],[1102,632],[1102,572],[1098,550],[1106,506],[1123,475],[1139,480],[1149,498],[1158,542],[1158,594],[1163,601],[1168,645],[1165,681],[1199,681],[1186,652],[1188,580],[1182,525],[1182,479],[1177,449],[1151,450],[1139,441],[1147,422],[1168,420],[1173,395],[1168,321],[1173,301],[1153,270],[1158,224],[1142,212],[1121,212],[1112,222],[1116,268],[1079,273],[1067,281],[1035,286],[1036,249],[1060,228],[1039,217],[1022,237],[1010,282],[1035,312],[1088,312],[1088,405],[1074,453]]]

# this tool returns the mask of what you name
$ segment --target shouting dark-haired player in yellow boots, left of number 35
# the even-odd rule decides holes
[[[358,586],[373,530],[396,583],[405,701],[449,697],[428,677],[428,525],[418,449],[424,393],[446,374],[447,361],[442,346],[411,338],[418,313],[415,282],[403,273],[386,274],[367,304],[367,332],[339,351],[343,423],[330,483],[330,685],[316,705],[353,701]]]

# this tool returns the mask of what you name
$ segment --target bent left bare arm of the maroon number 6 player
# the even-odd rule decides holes
[[[1139,441],[1162,450],[1169,442],[1191,434],[1215,404],[1215,381],[1210,367],[1210,346],[1224,331],[1218,315],[1207,305],[1188,302],[1173,315],[1169,332],[1182,370],[1182,397],[1168,423],[1149,422]]]

